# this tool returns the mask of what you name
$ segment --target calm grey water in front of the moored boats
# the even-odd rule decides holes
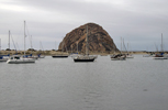
[[[0,110],[168,110],[168,61],[0,63]]]

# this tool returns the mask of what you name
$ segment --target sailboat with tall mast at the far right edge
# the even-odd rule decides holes
[[[154,59],[168,59],[168,55],[164,53],[163,50],[163,33],[161,33],[161,51],[154,56]]]

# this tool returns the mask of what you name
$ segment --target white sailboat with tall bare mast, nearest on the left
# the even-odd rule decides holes
[[[24,56],[21,55],[13,55],[8,61],[8,64],[27,64],[27,63],[35,63],[34,58],[25,57],[25,21],[24,21]]]

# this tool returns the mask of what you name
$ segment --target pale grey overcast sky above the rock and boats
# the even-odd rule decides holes
[[[24,20],[35,50],[40,42],[44,50],[53,50],[67,33],[93,22],[110,34],[117,48],[123,37],[132,51],[160,50],[163,33],[168,51],[168,0],[0,0],[2,50],[8,48],[9,30],[16,48],[24,48]],[[14,48],[12,40],[10,44]]]

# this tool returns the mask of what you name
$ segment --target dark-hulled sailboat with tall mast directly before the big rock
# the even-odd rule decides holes
[[[94,62],[97,58],[96,56],[89,56],[89,48],[88,48],[88,25],[87,25],[87,37],[86,37],[86,55],[80,55],[77,57],[74,57],[74,62]]]

